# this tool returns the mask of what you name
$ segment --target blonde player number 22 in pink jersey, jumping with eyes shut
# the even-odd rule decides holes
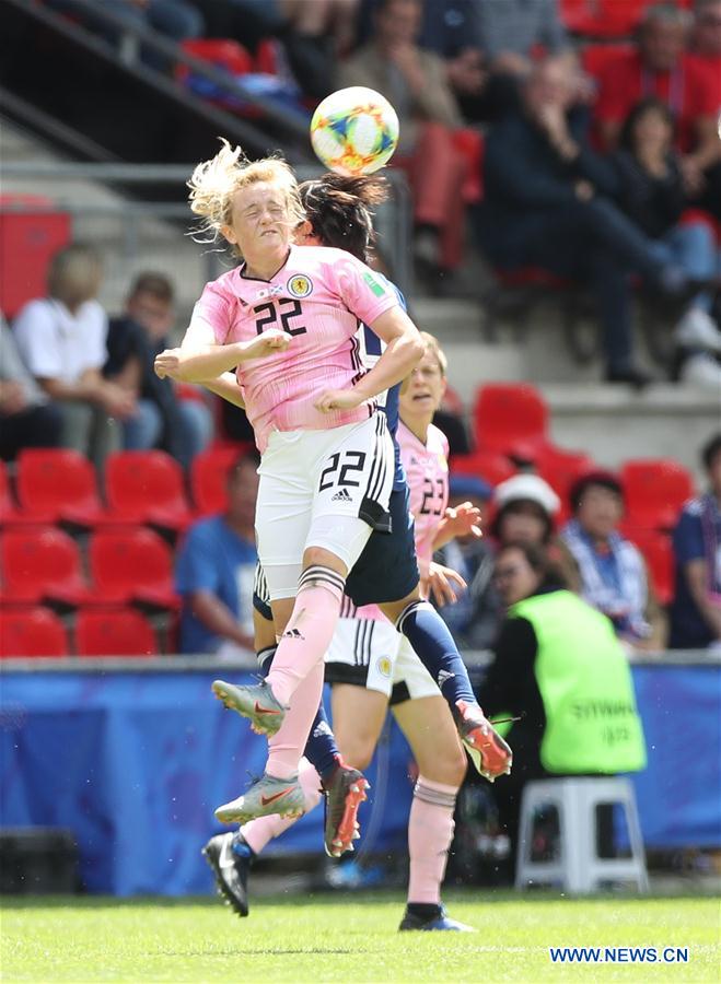
[[[280,160],[249,162],[223,141],[189,181],[193,211],[242,263],[206,285],[179,349],[160,376],[202,383],[236,367],[261,455],[258,555],[280,642],[261,683],[235,688],[235,710],[269,737],[247,816],[298,815],[299,762],[323,690],[323,657],[348,572],[372,528],[388,528],[393,443],[375,397],[422,353],[394,291],[363,262],[292,243],[304,221],[298,184]],[[386,343],[363,372],[356,333]]]

